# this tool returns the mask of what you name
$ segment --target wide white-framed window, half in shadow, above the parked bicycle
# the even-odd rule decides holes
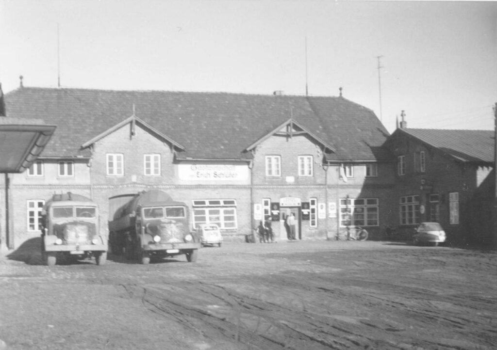
[[[340,226],[378,226],[378,198],[340,199]]]

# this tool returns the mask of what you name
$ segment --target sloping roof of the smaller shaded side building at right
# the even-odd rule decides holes
[[[494,162],[495,137],[492,130],[437,130],[437,129],[397,129],[447,155],[467,162]]]

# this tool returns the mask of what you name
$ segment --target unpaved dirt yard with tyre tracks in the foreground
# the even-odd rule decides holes
[[[35,247],[36,244],[33,245]],[[34,248],[33,248],[34,249]],[[0,259],[0,349],[496,349],[497,252],[225,243],[139,265]]]

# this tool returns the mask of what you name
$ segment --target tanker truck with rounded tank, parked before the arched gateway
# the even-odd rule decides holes
[[[189,211],[163,191],[138,193],[119,207],[109,221],[112,253],[126,259],[150,263],[151,257],[184,254],[188,262],[197,260],[200,240],[189,230]]]

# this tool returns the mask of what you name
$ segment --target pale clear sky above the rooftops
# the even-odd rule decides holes
[[[342,87],[389,132],[402,110],[409,128],[494,129],[497,1],[0,0],[0,41],[4,93],[19,75],[112,90]]]

